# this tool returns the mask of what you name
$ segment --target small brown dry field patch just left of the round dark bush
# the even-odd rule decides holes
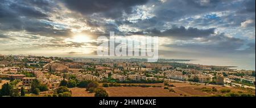
[[[94,97],[94,93],[88,93],[85,88],[69,88],[72,91],[72,97]]]

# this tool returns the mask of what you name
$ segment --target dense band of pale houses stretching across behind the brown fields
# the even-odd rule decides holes
[[[24,59],[23,56],[15,56],[16,59]],[[93,81],[103,81],[105,79],[115,79],[119,81],[141,81],[141,80],[163,80],[164,79],[174,79],[180,81],[189,81],[197,78],[200,83],[206,83],[213,80],[217,84],[224,84],[224,76],[218,75],[213,76],[209,74],[211,70],[209,67],[200,66],[207,73],[201,72],[199,70],[188,70],[179,67],[173,68],[170,65],[156,64],[156,63],[144,63],[144,62],[122,62],[121,60],[105,59],[88,59],[83,62],[90,62],[91,64],[82,63],[77,60],[77,62],[52,62],[54,59],[50,58],[36,58],[36,57],[26,57],[28,65],[44,63],[46,67],[43,68],[19,68],[19,67],[5,67],[3,64],[0,67],[0,79],[12,79],[20,80],[22,84],[20,86],[30,87],[32,81],[35,79],[39,80],[40,83],[46,84],[48,89],[56,89],[59,87],[60,81],[63,78],[67,79],[65,75],[73,75],[78,81],[83,80],[93,80]],[[1,64],[2,65],[2,64]],[[20,72],[26,71],[31,72],[35,77],[26,77],[26,75]],[[156,72],[157,71],[157,72]],[[222,74],[222,71],[216,71]],[[227,71],[230,72],[230,71]],[[252,71],[246,71],[246,75],[250,75]],[[54,74],[51,74],[54,73]],[[161,77],[161,78],[159,78]],[[255,85],[255,77],[239,77],[229,75],[225,77],[228,79],[239,79],[240,81],[245,81]]]

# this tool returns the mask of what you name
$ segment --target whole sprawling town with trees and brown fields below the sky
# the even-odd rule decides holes
[[[255,71],[179,61],[0,55],[0,96],[255,96]]]

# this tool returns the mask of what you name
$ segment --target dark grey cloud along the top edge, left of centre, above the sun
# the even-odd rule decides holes
[[[98,13],[106,18],[119,18],[122,16],[123,12],[131,14],[133,6],[143,5],[147,1],[148,0],[63,0],[65,5],[71,10],[85,15]]]

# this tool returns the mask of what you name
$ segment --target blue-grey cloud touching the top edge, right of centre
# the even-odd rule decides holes
[[[159,8],[156,8],[155,14],[161,20],[177,20],[183,16],[202,14],[210,11],[221,10],[222,5],[220,0],[181,0],[181,1],[167,1],[159,4]],[[225,1],[226,2],[226,1]],[[217,9],[218,7],[218,9]]]

